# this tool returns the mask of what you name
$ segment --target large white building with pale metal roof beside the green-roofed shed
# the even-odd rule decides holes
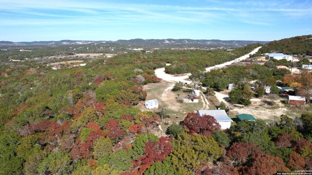
[[[228,129],[231,127],[231,122],[233,120],[226,114],[225,110],[198,110],[197,116],[201,117],[203,115],[213,116],[217,123],[220,124],[221,129]]]

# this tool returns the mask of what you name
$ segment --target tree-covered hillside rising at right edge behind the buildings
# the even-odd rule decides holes
[[[265,44],[260,53],[311,54],[312,35],[295,36]]]

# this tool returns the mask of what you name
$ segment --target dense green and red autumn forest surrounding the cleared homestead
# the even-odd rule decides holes
[[[278,123],[242,121],[220,130],[213,117],[189,113],[168,127],[167,136],[159,137],[155,131],[160,117],[136,106],[146,98],[142,85],[159,82],[154,70],[166,62],[191,62],[194,54],[196,64],[203,58],[211,60],[211,66],[254,47],[124,53],[61,70],[19,66],[24,63],[2,66],[0,174],[257,175],[311,170],[310,114],[294,120],[283,115]],[[218,60],[218,53],[233,56]],[[209,73],[227,83],[243,77],[270,83],[272,76],[276,81],[288,73],[270,66]]]

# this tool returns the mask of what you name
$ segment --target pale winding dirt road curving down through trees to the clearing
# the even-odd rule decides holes
[[[249,57],[249,54],[254,54],[254,53],[258,52],[258,50],[260,48],[261,47],[257,47],[251,53],[247,53],[247,54],[245,54],[245,55],[243,55],[243,56],[241,56],[239,58],[236,58],[236,59],[234,59],[232,61],[228,61],[228,62],[219,64],[219,65],[215,65],[215,66],[206,68],[206,71],[210,71],[210,70],[215,69],[215,68],[223,68],[225,66],[231,65],[234,62],[245,60],[245,59],[247,59]],[[170,64],[166,64],[166,65],[170,65]],[[188,83],[188,84],[192,83],[191,81],[185,80],[185,79],[189,78],[191,73],[185,73],[185,74],[182,74],[182,75],[171,75],[171,74],[168,74],[168,73],[165,72],[165,68],[159,68],[159,69],[155,70],[155,75],[158,78],[161,78],[161,79],[163,79],[163,80],[165,80],[167,82],[171,82],[171,83],[176,83],[176,82],[179,82],[179,81],[183,82],[183,83]]]

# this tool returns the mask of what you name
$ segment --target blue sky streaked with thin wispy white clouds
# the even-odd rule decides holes
[[[0,0],[0,40],[222,39],[312,34],[312,0]]]

